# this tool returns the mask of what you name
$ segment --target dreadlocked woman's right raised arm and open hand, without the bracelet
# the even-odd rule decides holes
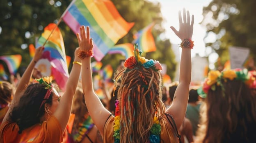
[[[194,16],[190,24],[190,13],[183,9],[183,21],[181,11],[179,11],[180,29],[177,31],[174,27],[171,29],[183,41],[184,39],[191,39],[193,34]],[[189,86],[191,80],[191,49],[182,48],[179,84],[174,94],[174,99],[171,106],[166,110],[167,113],[173,115],[177,128],[182,124],[185,112],[187,109],[187,101],[189,94]]]

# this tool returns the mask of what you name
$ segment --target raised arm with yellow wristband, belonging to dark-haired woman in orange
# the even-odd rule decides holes
[[[76,48],[74,62],[81,61],[78,58],[78,51],[79,51],[79,48]],[[62,127],[62,132],[64,132],[64,130],[66,129],[66,125],[69,121],[69,116],[71,113],[71,107],[73,103],[73,96],[75,95],[75,89],[78,85],[80,71],[81,71],[81,65],[79,65],[78,63],[73,63],[73,67],[69,74],[69,79],[66,83],[66,91],[64,92],[59,102],[59,105],[55,113],[53,114],[59,121],[59,124]]]

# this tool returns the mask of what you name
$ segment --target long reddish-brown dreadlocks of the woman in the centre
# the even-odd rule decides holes
[[[146,143],[155,114],[161,123],[165,113],[160,72],[138,65],[121,72],[121,76],[117,74],[115,79],[120,78],[120,143]]]

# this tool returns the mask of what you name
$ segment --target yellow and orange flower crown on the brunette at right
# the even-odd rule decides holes
[[[208,73],[208,77],[203,82],[203,92],[201,94],[207,94],[209,89],[215,91],[216,86],[221,86],[224,91],[224,87],[222,85],[222,79],[224,82],[229,80],[241,80],[250,88],[256,88],[256,71],[249,71],[247,69],[228,69],[222,72],[219,71],[210,71]]]

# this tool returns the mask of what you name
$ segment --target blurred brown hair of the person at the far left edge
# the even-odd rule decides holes
[[[14,86],[7,82],[0,82],[0,104],[11,103],[11,96],[14,94]]]

